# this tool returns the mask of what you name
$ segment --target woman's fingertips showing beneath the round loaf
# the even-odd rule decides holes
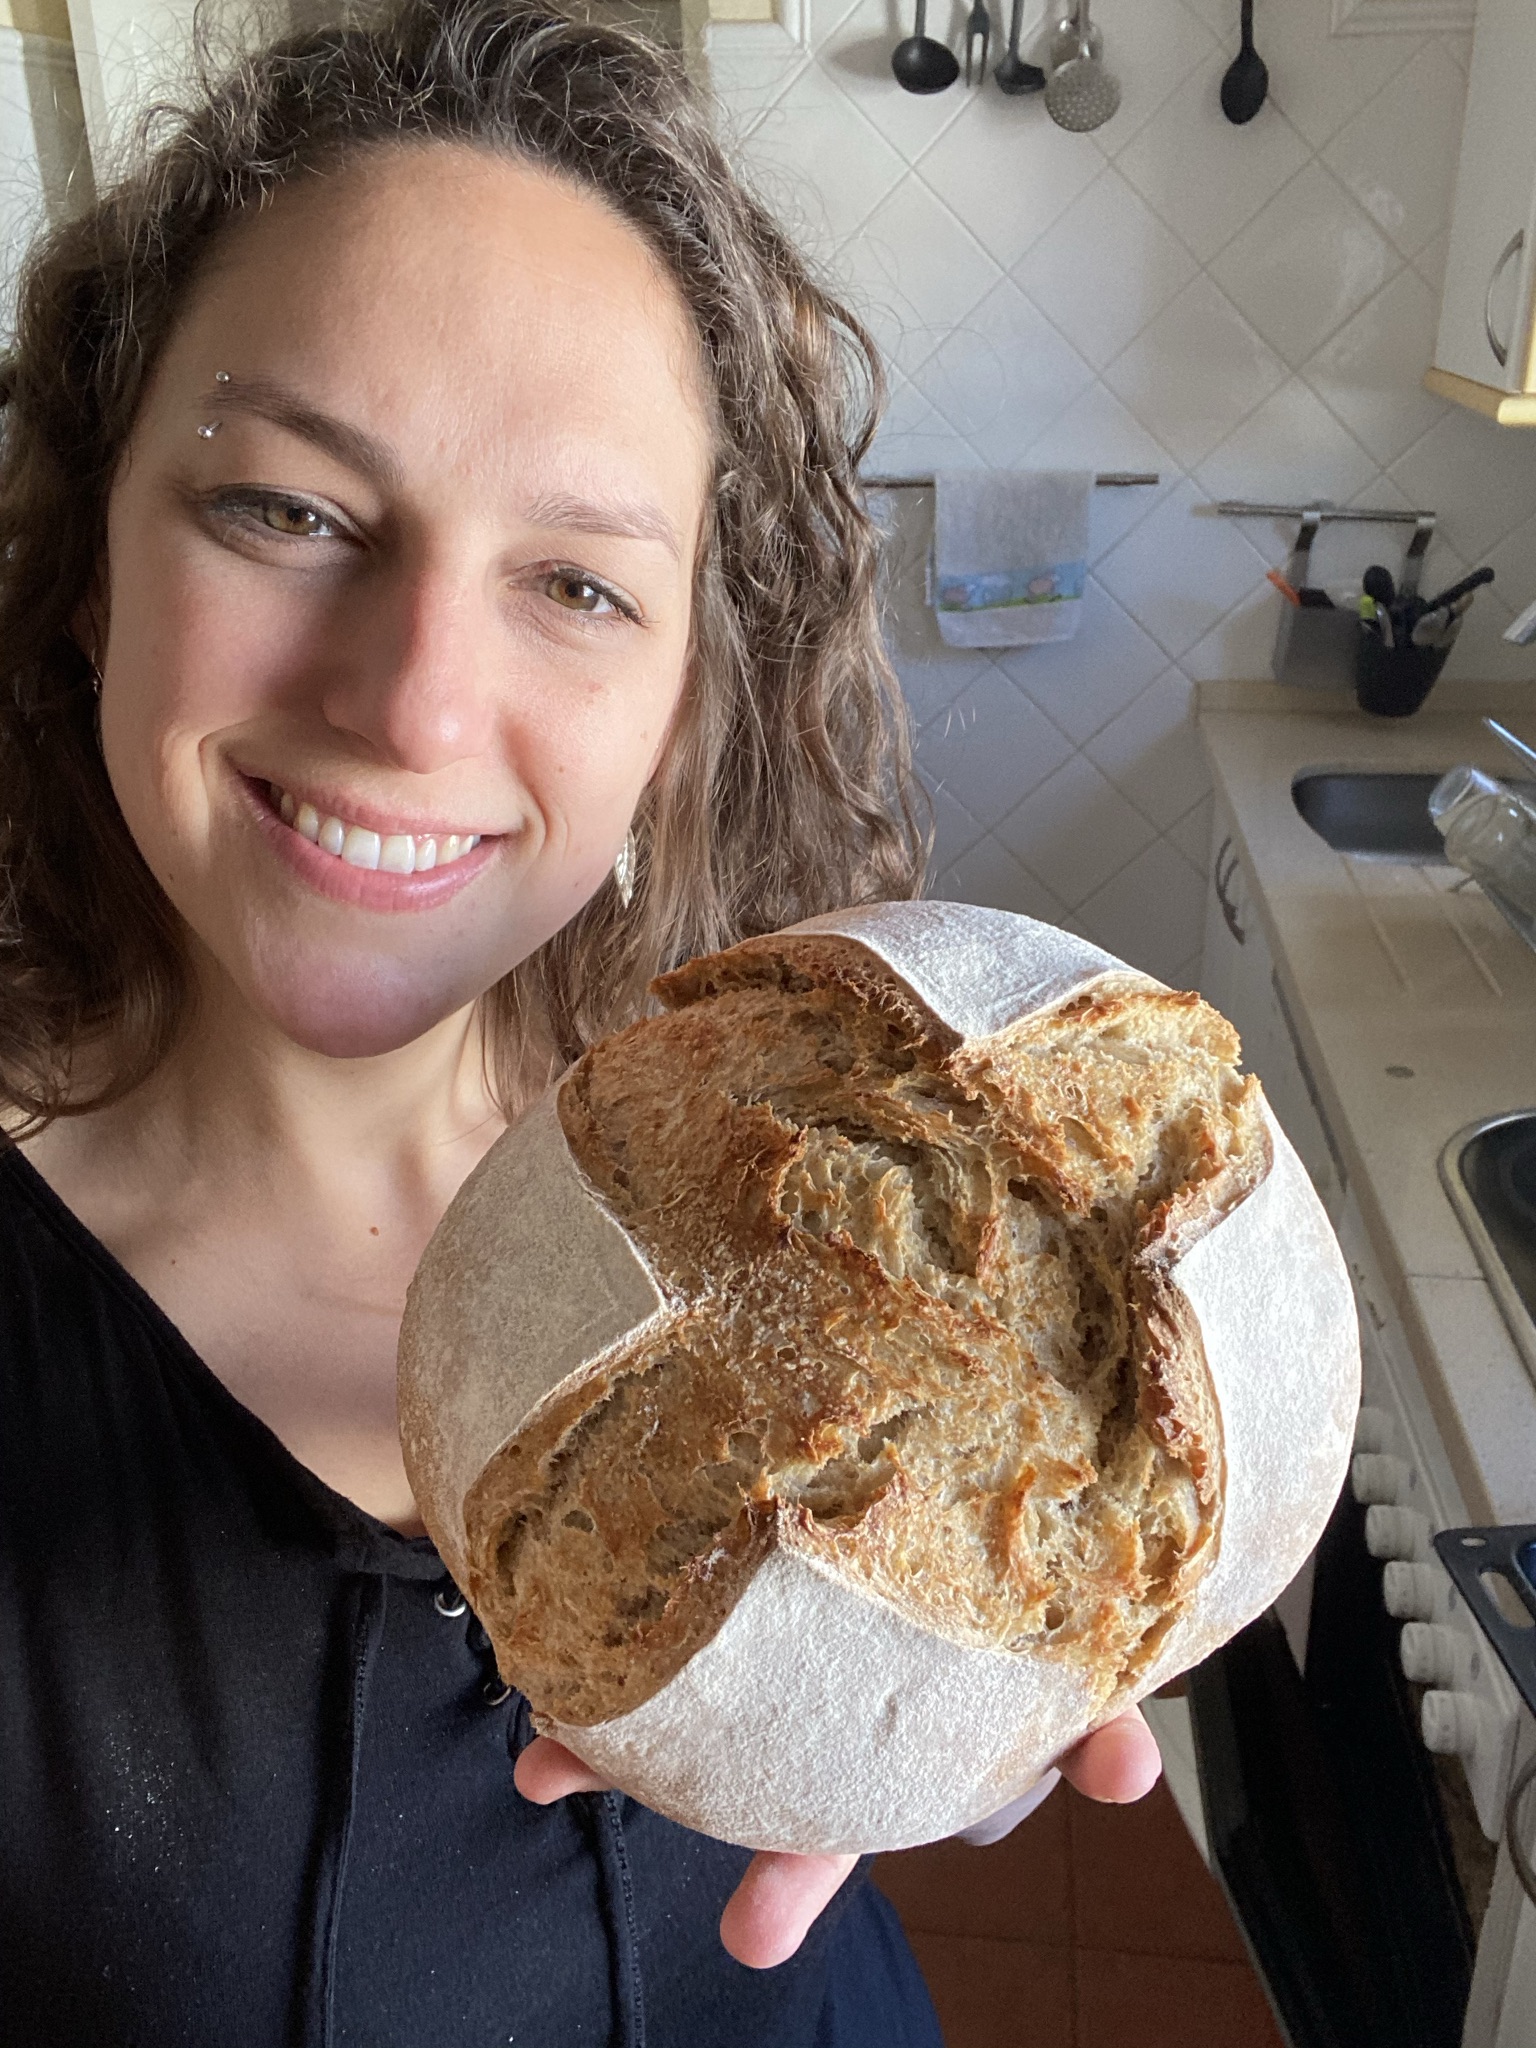
[[[1143,1798],[1161,1767],[1153,1733],[1135,1710],[1083,1737],[1059,1761],[1061,1776],[1081,1794],[1112,1804]],[[547,1735],[535,1737],[522,1751],[514,1780],[535,1806],[549,1806],[569,1792],[612,1790]],[[721,1913],[727,1952],[752,1970],[788,1962],[856,1862],[854,1855],[782,1855],[770,1849],[754,1855]]]

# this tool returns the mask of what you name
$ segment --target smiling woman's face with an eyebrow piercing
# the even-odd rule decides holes
[[[223,242],[109,502],[102,750],[287,1036],[406,1044],[600,887],[682,692],[709,461],[676,289],[537,170],[381,154]]]

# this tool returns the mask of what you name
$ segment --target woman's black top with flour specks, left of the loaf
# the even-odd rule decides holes
[[[332,1493],[0,1153],[0,2042],[940,2048],[856,1882],[719,1946],[745,1851],[532,1806],[426,1538]]]

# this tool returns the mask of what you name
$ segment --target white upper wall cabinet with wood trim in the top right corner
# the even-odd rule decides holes
[[[1534,303],[1536,0],[1479,0],[1430,389],[1536,426]]]

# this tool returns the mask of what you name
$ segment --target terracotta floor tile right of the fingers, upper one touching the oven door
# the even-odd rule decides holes
[[[1174,1794],[1159,1784],[1133,1806],[1065,1792],[1081,1948],[1208,1956],[1247,1966],[1221,1886],[1190,1841]]]

